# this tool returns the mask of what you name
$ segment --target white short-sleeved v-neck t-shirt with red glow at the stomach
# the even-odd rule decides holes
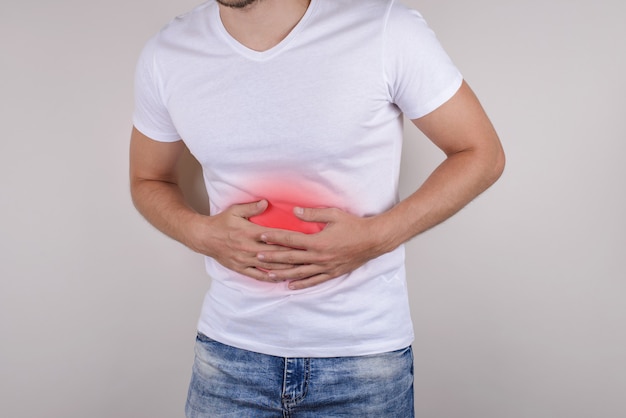
[[[268,199],[358,216],[398,202],[402,114],[426,115],[462,77],[419,13],[394,0],[312,0],[278,45],[258,52],[225,30],[214,1],[144,48],[135,127],[182,138],[203,167],[213,214]],[[198,329],[286,357],[356,356],[413,341],[404,248],[291,291],[206,257]]]

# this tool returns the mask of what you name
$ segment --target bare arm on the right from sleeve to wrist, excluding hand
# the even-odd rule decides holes
[[[451,100],[413,123],[446,159],[415,193],[382,216],[387,218],[387,228],[395,231],[394,244],[454,215],[495,183],[504,170],[500,140],[465,82]]]

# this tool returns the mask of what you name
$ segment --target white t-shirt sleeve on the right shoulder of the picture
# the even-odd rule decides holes
[[[391,101],[410,119],[447,102],[463,81],[422,15],[397,2],[389,9],[384,60]]]

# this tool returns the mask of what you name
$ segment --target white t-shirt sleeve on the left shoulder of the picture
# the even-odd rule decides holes
[[[143,48],[135,70],[135,109],[133,125],[148,138],[161,142],[180,140],[163,98],[161,80],[155,65],[157,38]]]

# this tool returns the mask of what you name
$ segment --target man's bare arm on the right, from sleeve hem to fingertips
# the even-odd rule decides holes
[[[299,265],[270,272],[273,280],[292,280],[292,289],[303,289],[348,273],[448,219],[501,175],[502,146],[466,83],[448,102],[413,123],[446,154],[439,167],[412,195],[377,216],[296,209],[301,219],[325,222],[327,227],[314,235],[263,234],[268,242],[303,249],[258,254],[264,261]]]

